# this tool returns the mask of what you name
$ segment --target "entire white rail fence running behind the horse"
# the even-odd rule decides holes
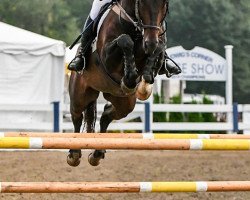
[[[99,130],[99,117],[103,110],[104,104],[98,104],[98,120],[96,131]],[[1,113],[9,112],[24,112],[29,113],[32,118],[31,122],[23,121],[22,118],[13,121],[0,121],[0,130],[9,131],[53,131],[54,127],[54,108],[52,105],[0,105]],[[110,124],[108,130],[124,131],[232,131],[234,127],[233,121],[227,122],[153,122],[153,112],[197,112],[197,113],[233,113],[233,106],[230,105],[186,105],[186,104],[150,104],[150,112],[145,112],[144,104],[136,104],[134,112],[128,115],[123,120],[114,121]],[[250,133],[250,105],[238,105],[238,112],[242,113],[242,120],[237,123],[238,129],[244,133]],[[38,113],[43,113],[42,117],[36,118],[34,116]],[[237,114],[237,113],[236,113]],[[141,122],[128,122],[135,117],[140,117]],[[73,124],[70,121],[69,105],[60,106],[59,118],[60,130],[62,132],[72,132]],[[150,119],[150,120],[149,120]],[[148,122],[148,123],[146,123]],[[148,128],[146,128],[148,127]]]

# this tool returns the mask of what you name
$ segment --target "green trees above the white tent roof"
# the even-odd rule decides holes
[[[0,19],[11,25],[71,43],[79,30],[61,0],[1,0]],[[18,36],[17,36],[18,37]]]

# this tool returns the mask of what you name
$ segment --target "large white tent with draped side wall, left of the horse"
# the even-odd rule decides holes
[[[61,101],[65,44],[0,22],[0,103]]]

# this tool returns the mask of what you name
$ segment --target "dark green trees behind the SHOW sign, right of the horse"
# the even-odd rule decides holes
[[[168,19],[169,46],[208,48],[224,57],[224,45],[234,46],[234,100],[250,102],[250,2],[248,0],[175,0]],[[224,84],[189,82],[187,91],[224,95]]]

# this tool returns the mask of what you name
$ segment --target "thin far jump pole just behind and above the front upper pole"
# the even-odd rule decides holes
[[[250,135],[236,134],[170,134],[170,133],[38,133],[0,132],[1,137],[43,137],[43,138],[134,138],[134,139],[250,139]]]

